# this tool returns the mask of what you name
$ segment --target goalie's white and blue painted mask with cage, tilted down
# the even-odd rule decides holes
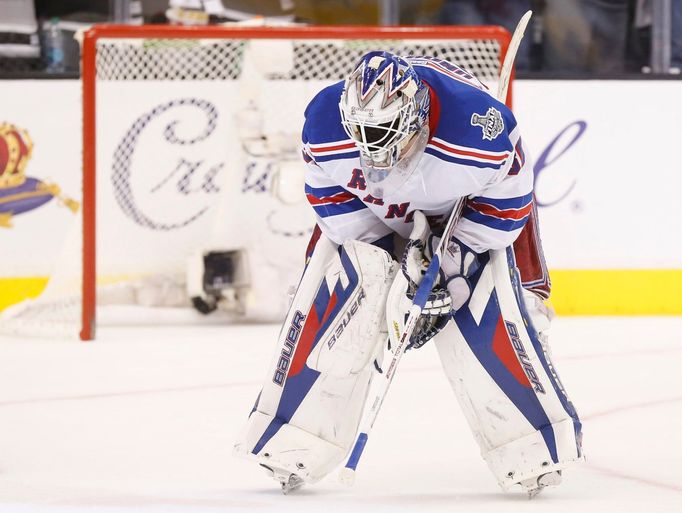
[[[429,138],[429,94],[415,70],[401,57],[370,52],[346,80],[339,108],[344,130],[360,149],[372,196],[398,190]]]

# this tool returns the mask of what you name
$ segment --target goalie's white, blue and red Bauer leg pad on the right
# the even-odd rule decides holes
[[[581,460],[581,424],[526,310],[513,251],[482,256],[469,303],[435,341],[483,458],[508,489]]]

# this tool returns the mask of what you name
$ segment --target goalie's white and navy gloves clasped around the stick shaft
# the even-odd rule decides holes
[[[411,235],[417,238],[407,242],[401,261],[401,270],[409,284],[406,295],[410,302],[440,242],[439,237],[429,233],[423,216],[419,216],[419,221],[415,216],[415,227],[422,219],[424,228],[413,230]],[[445,328],[452,314],[469,300],[471,286],[468,277],[478,267],[476,253],[456,237],[451,237],[443,254],[439,279],[429,293],[407,349],[422,347]]]

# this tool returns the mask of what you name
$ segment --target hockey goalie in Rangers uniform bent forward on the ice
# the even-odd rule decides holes
[[[433,339],[503,489],[559,484],[582,459],[581,424],[549,357],[550,282],[512,112],[450,62],[375,51],[319,92],[305,118],[317,228],[236,453],[285,491],[344,462],[447,237],[408,349]]]

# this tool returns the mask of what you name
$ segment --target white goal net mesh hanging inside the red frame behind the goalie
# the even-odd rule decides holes
[[[296,164],[305,106],[375,49],[446,59],[489,87],[499,73],[500,43],[486,38],[98,39],[97,281],[115,284],[98,301],[181,281],[198,249],[241,249],[246,317],[282,315],[313,226]],[[6,312],[0,333],[77,336],[81,237],[77,224],[46,292]]]

